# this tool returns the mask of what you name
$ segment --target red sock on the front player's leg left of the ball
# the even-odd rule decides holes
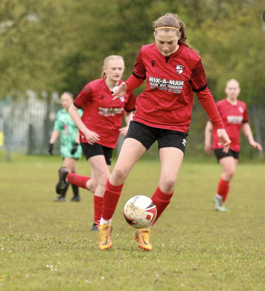
[[[107,180],[106,189],[103,196],[103,209],[101,217],[105,220],[112,218],[112,215],[118,204],[123,183],[121,185],[110,184],[109,179]]]

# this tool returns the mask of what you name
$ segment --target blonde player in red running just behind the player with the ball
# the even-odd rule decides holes
[[[105,58],[102,78],[89,82],[69,108],[80,130],[81,146],[92,174],[91,177],[80,176],[60,168],[56,189],[60,191],[69,182],[94,193],[92,230],[98,230],[103,194],[110,176],[112,150],[116,147],[119,133],[126,135],[132,110],[135,109],[135,95],[132,92],[112,101],[113,88],[121,84],[124,69],[123,57],[113,55]],[[78,115],[78,108],[81,107],[84,107],[82,118]],[[121,128],[124,113],[127,126]]]

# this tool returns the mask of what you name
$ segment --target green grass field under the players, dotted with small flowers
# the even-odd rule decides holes
[[[113,246],[97,249],[93,196],[55,203],[55,156],[0,154],[0,290],[264,290],[264,164],[239,164],[226,207],[215,212],[221,167],[184,159],[175,194],[152,229],[153,251],[137,247],[123,206],[151,197],[159,161],[139,161],[112,219]],[[84,159],[80,174],[89,175]],[[67,201],[72,197],[71,188]]]

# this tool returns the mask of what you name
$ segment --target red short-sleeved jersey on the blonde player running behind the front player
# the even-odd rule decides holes
[[[121,84],[119,81],[119,85]],[[130,92],[112,100],[112,92],[105,84],[105,78],[89,82],[74,101],[77,108],[84,107],[81,120],[85,126],[100,135],[97,143],[115,148],[119,137],[124,110],[135,109],[135,95]],[[82,132],[80,141],[87,143]]]

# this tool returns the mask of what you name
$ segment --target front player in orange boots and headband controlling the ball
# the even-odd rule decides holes
[[[114,88],[112,94],[116,100],[142,85],[146,79],[146,89],[137,97],[133,120],[107,181],[99,226],[99,249],[108,249],[112,245],[111,218],[123,182],[137,160],[156,140],[161,175],[151,199],[157,207],[157,219],[169,204],[185,152],[193,92],[215,123],[224,151],[229,148],[230,140],[207,88],[198,51],[186,41],[184,22],[178,15],[167,13],[154,22],[153,28],[155,43],[142,46],[132,75]],[[136,231],[135,239],[140,248],[152,249],[149,234],[149,228]]]

